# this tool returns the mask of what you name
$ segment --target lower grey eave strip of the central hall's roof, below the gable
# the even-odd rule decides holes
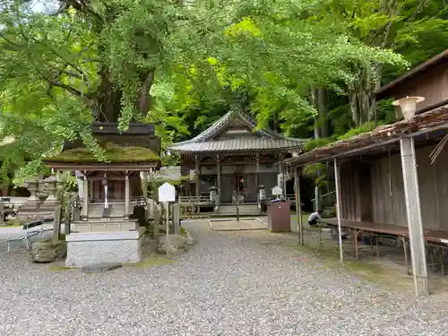
[[[298,139],[266,139],[266,138],[235,138],[210,142],[187,142],[171,147],[171,151],[250,151],[296,149],[302,147],[304,141]]]

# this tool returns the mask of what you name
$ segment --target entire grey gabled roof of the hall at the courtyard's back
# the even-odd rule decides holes
[[[233,121],[239,121],[246,125],[249,131],[258,137],[238,137],[232,139],[214,140],[214,137],[225,130]],[[307,140],[295,139],[283,136],[271,130],[256,130],[256,122],[238,111],[230,111],[220,117],[213,125],[202,134],[185,142],[173,143],[168,147],[169,151],[175,152],[220,152],[220,151],[258,151],[258,150],[294,150],[301,149]]]

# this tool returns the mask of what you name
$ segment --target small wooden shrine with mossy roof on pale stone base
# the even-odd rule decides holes
[[[159,168],[159,138],[154,125],[137,123],[121,132],[116,123],[94,122],[92,134],[104,150],[106,162],[97,159],[80,140],[65,143],[60,154],[44,159],[56,171],[77,172],[83,181],[82,215],[65,237],[65,264],[138,262],[144,228],[132,215],[142,197],[141,172]]]

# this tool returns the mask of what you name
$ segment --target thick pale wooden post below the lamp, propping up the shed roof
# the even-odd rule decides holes
[[[403,170],[404,195],[408,214],[409,246],[412,274],[418,296],[428,295],[425,240],[418,190],[418,171],[414,138],[401,138],[401,168]]]

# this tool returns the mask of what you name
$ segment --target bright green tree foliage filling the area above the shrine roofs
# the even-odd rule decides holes
[[[430,23],[444,38],[443,11],[423,0],[59,0],[47,11],[35,4],[0,4],[0,138],[17,140],[3,166],[30,159],[27,174],[76,137],[101,157],[93,119],[122,129],[157,122],[166,144],[242,108],[260,126],[306,136],[318,115],[310,92],[324,88],[334,100],[355,92],[349,102],[358,109],[349,113],[363,125],[370,110],[359,111],[370,107],[377,69],[407,65],[390,48],[423,43]]]

